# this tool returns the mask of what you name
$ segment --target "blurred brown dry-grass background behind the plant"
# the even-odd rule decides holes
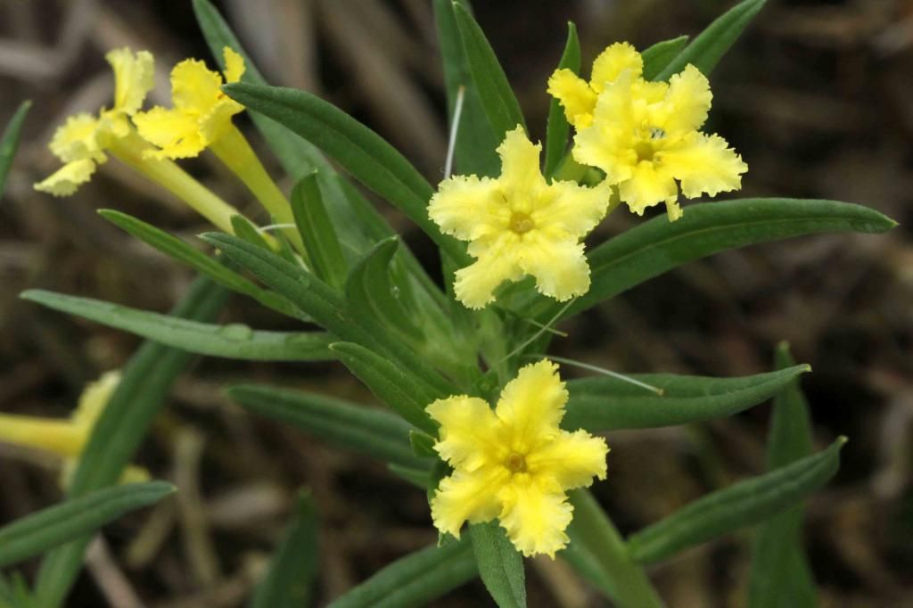
[[[446,117],[429,0],[216,4],[274,84],[315,91],[352,112],[432,183],[440,180]],[[694,35],[731,4],[474,3],[534,137],[544,133],[545,81],[567,20],[578,25],[588,73],[613,41],[644,48]],[[191,278],[95,214],[117,208],[190,240],[206,229],[118,162],[68,199],[31,187],[58,166],[47,151],[58,124],[74,111],[110,104],[103,56],[124,45],[155,55],[155,103],[167,103],[167,75],[177,60],[205,58],[215,66],[189,0],[0,0],[0,121],[20,100],[35,102],[0,204],[0,411],[67,416],[83,385],[120,367],[138,344],[19,301],[19,291],[49,288],[164,311]],[[553,347],[619,372],[729,376],[769,370],[774,345],[790,341],[796,359],[813,366],[803,388],[816,444],[850,438],[840,473],[809,504],[807,546],[824,606],[913,605],[911,77],[910,0],[771,0],[712,76],[707,130],[750,165],[739,195],[857,202],[901,225],[883,236],[805,237],[689,264],[567,324],[570,336]],[[241,125],[249,129],[246,117]],[[251,139],[280,177],[262,141]],[[183,164],[226,200],[254,209],[214,157]],[[430,242],[382,208],[433,263]],[[639,221],[620,211],[597,238]],[[241,298],[224,319],[292,329]],[[219,387],[240,379],[372,402],[338,364],[197,362],[137,458],[153,476],[177,480],[181,493],[109,526],[68,605],[242,605],[301,486],[313,491],[322,519],[320,603],[434,542],[422,492],[367,458],[227,403]],[[768,414],[761,405],[709,425],[610,434],[610,477],[597,496],[629,532],[757,474]],[[0,521],[58,500],[57,480],[57,463],[47,456],[0,446]],[[670,606],[743,605],[749,540],[747,533],[729,537],[656,568]],[[531,561],[528,572],[530,605],[607,605],[561,561]],[[487,602],[474,582],[435,605]]]

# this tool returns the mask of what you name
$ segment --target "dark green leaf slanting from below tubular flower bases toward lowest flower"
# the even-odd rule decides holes
[[[427,388],[424,393],[456,393],[453,385],[423,362],[415,351],[402,341],[394,339],[372,318],[353,316],[340,294],[304,268],[289,264],[236,236],[209,233],[201,238],[221,249],[226,257],[247,268],[268,287],[275,289],[342,341],[355,342],[383,355],[389,365],[412,377],[415,385],[425,385]]]

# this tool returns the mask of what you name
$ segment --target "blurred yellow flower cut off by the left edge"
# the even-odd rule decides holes
[[[37,416],[0,414],[0,441],[32,447],[63,459],[63,485],[79,463],[79,455],[89,441],[92,427],[110,401],[121,372],[107,372],[89,383],[79,396],[79,404],[69,420],[52,420]],[[149,473],[139,466],[128,466],[121,483],[147,481]]]

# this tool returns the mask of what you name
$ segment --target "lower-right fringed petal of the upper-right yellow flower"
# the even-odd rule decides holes
[[[741,174],[748,171],[748,165],[726,140],[698,132],[666,149],[662,159],[666,171],[681,180],[682,193],[688,198],[739,190]]]

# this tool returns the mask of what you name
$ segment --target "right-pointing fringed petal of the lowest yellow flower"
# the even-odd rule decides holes
[[[527,456],[530,474],[552,476],[564,489],[588,487],[593,476],[605,478],[609,447],[602,437],[586,431],[561,431],[551,443]]]

